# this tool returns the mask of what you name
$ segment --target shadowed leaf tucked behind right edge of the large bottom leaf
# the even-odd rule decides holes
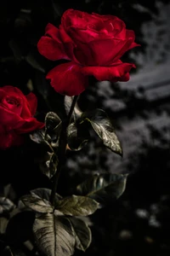
[[[71,221],[76,236],[76,247],[83,252],[89,247],[92,241],[91,230],[88,225],[80,218],[67,217]]]

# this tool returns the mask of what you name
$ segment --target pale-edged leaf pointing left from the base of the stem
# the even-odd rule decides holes
[[[54,207],[49,201],[50,195],[50,189],[34,189],[31,190],[31,195],[22,196],[20,201],[35,212],[54,212]]]

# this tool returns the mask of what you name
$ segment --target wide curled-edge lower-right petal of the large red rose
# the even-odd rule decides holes
[[[99,81],[127,81],[128,74],[134,64],[121,63],[120,61],[111,67],[82,67],[84,75],[93,75]]]

